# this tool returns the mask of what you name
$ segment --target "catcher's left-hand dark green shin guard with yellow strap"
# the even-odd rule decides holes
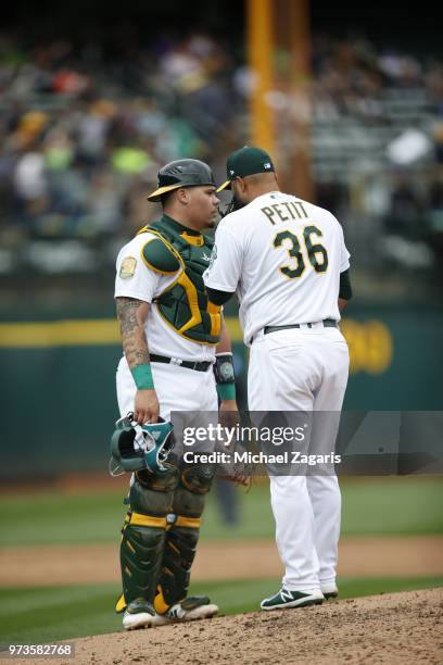
[[[152,603],[165,544],[166,515],[172,511],[178,472],[154,475],[137,472],[129,492],[130,510],[122,530],[121,567],[123,595],[117,612],[126,605]]]

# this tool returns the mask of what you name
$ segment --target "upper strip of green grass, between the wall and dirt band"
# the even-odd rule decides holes
[[[353,478],[341,482],[342,535],[443,532],[441,478]],[[238,490],[240,524],[223,524],[214,495],[205,511],[202,538],[273,538],[274,520],[265,485]],[[81,494],[40,491],[0,497],[2,545],[115,542],[125,507],[121,491]]]

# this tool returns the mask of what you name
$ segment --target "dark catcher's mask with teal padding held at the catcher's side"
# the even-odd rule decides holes
[[[168,470],[165,462],[175,446],[169,421],[159,417],[159,423],[138,426],[134,423],[134,413],[128,413],[115,423],[115,427],[111,438],[112,476],[143,468],[154,474]]]

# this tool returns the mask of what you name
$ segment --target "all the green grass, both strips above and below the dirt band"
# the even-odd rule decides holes
[[[352,478],[341,484],[342,534],[443,534],[443,484],[431,477]],[[125,507],[121,490],[38,491],[0,497],[1,544],[115,542]],[[274,538],[268,488],[239,491],[240,524],[223,524],[211,497],[202,529],[203,540]],[[0,550],[1,555],[1,550]],[[443,586],[442,577],[349,578],[340,580],[341,598]],[[195,584],[194,593],[207,593],[224,614],[258,608],[260,600],[279,587],[278,579]],[[48,642],[121,630],[113,613],[118,589],[114,585],[8,588],[0,592],[2,644]]]

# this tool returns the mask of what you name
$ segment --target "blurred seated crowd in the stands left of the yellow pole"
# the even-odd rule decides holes
[[[149,221],[159,165],[210,159],[226,140],[238,116],[231,68],[228,51],[199,34],[111,55],[64,40],[26,51],[1,36],[0,272],[20,265],[5,250],[23,238],[100,243]],[[89,269],[88,244],[67,247],[52,244],[50,256],[34,243],[22,259]]]

